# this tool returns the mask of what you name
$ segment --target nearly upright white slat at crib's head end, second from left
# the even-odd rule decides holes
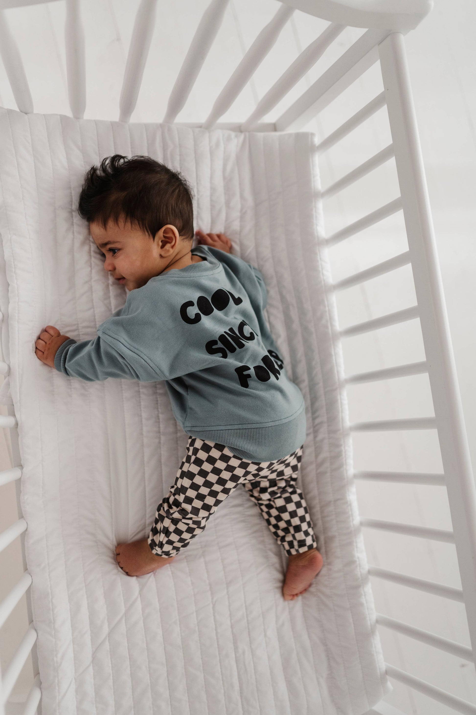
[[[84,56],[84,28],[80,0],[66,1],[64,44],[69,108],[75,119],[84,117],[86,109],[86,59]]]

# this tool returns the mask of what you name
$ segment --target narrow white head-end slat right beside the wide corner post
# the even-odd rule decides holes
[[[281,102],[283,97],[286,97],[286,94],[288,94],[294,85],[304,77],[306,72],[316,64],[319,57],[324,54],[329,45],[334,42],[336,37],[338,37],[345,28],[345,25],[337,25],[335,23],[326,27],[324,32],[301,52],[293,61],[293,64],[288,66],[288,69],[281,74],[281,77],[273,84],[273,87],[268,89],[268,92],[260,99],[256,108],[251,112],[248,119],[246,119],[246,122],[243,122],[241,125],[241,131],[254,131],[255,125],[259,122],[261,117],[271,112],[271,109],[274,109],[276,104]]]

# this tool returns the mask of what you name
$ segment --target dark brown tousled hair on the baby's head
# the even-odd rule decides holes
[[[193,238],[192,192],[178,172],[150,157],[102,159],[84,175],[79,216],[103,227],[125,219],[155,237],[167,224]]]

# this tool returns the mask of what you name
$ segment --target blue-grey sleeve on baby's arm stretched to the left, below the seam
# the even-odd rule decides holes
[[[142,382],[164,379],[156,366],[109,335],[81,342],[66,340],[54,356],[54,367],[59,373],[88,382],[107,378]]]

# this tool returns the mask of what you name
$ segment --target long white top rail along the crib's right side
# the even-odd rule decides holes
[[[472,649],[476,652],[476,488],[403,35],[389,34],[379,44],[379,57],[462,591]]]

